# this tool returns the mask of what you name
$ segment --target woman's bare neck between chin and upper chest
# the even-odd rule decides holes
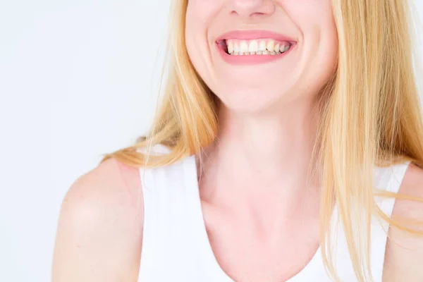
[[[314,106],[296,101],[266,116],[220,106],[219,136],[204,151],[202,169],[212,178],[207,183],[244,191],[284,189],[290,195],[305,189],[312,181],[307,176],[317,128]]]

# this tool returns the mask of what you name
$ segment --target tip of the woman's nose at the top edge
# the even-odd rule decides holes
[[[232,13],[240,16],[271,15],[275,5],[271,0],[233,0]]]

